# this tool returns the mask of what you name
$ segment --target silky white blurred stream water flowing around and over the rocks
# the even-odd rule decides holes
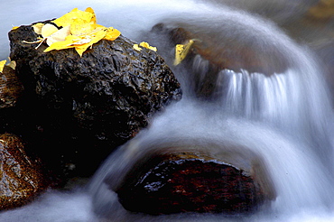
[[[50,190],[26,207],[0,213],[0,221],[334,221],[334,124],[332,98],[324,80],[326,69],[320,66],[317,51],[311,49],[311,31],[302,32],[299,38],[305,42],[299,43],[292,40],[295,37],[292,32],[289,37],[282,29],[296,23],[293,21],[301,18],[314,1],[291,2],[7,3],[0,15],[1,21],[6,21],[1,24],[2,49],[8,49],[3,36],[11,24],[46,20],[74,7],[91,6],[96,10],[97,23],[114,26],[138,42],[146,39],[157,44],[163,42],[154,39],[159,38],[155,35],[150,36],[149,31],[156,23],[199,25],[200,32],[214,32],[219,46],[231,47],[224,43],[231,38],[249,46],[255,59],[263,61],[265,70],[273,74],[223,69],[215,82],[215,98],[206,101],[194,97],[196,84],[191,71],[182,66],[174,68],[166,58],[181,81],[184,95],[180,102],[158,113],[147,129],[112,153],[87,187],[69,192]],[[265,54],[268,48],[274,54]],[[170,51],[162,49],[161,53],[168,55]],[[5,59],[6,54],[0,57]],[[224,56],[245,59],[237,52]],[[283,69],[276,69],[277,64]],[[206,61],[195,59],[192,69],[203,73],[205,78]],[[252,215],[153,217],[125,211],[104,182],[107,179],[109,186],[116,186],[145,153],[191,143],[215,143],[214,149],[218,150],[233,144],[257,153],[272,177],[277,198]]]

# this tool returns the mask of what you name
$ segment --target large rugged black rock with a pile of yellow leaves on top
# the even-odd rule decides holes
[[[101,40],[80,58],[74,49],[43,52],[31,25],[9,32],[11,60],[25,88],[18,113],[30,132],[14,129],[67,172],[90,176],[116,146],[181,98],[180,84],[155,51],[135,51],[124,36]],[[33,132],[33,133],[31,133]],[[74,175],[74,176],[77,176]]]

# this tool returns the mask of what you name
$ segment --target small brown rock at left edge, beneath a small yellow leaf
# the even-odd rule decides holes
[[[23,92],[23,85],[10,67],[5,66],[0,76],[0,108],[13,107]]]

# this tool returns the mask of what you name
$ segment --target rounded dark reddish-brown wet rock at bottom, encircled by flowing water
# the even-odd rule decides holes
[[[124,208],[153,215],[246,213],[275,199],[264,162],[254,153],[178,151],[163,150],[137,162],[113,188]]]

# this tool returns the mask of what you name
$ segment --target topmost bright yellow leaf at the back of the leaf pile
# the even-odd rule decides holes
[[[54,20],[53,23],[57,24],[58,26],[67,26],[70,25],[75,19],[81,19],[86,23],[90,23],[96,21],[94,17],[95,14],[92,14],[90,12],[83,12],[80,11],[78,8],[75,8],[70,11],[70,13],[64,14],[60,18]]]

